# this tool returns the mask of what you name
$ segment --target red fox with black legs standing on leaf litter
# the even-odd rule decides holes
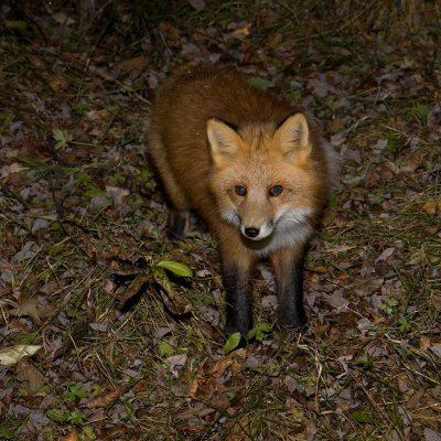
[[[226,330],[252,327],[251,278],[268,257],[279,322],[303,327],[303,258],[337,175],[337,155],[303,114],[235,71],[181,68],[160,87],[149,149],[183,237],[195,209],[217,236]]]

